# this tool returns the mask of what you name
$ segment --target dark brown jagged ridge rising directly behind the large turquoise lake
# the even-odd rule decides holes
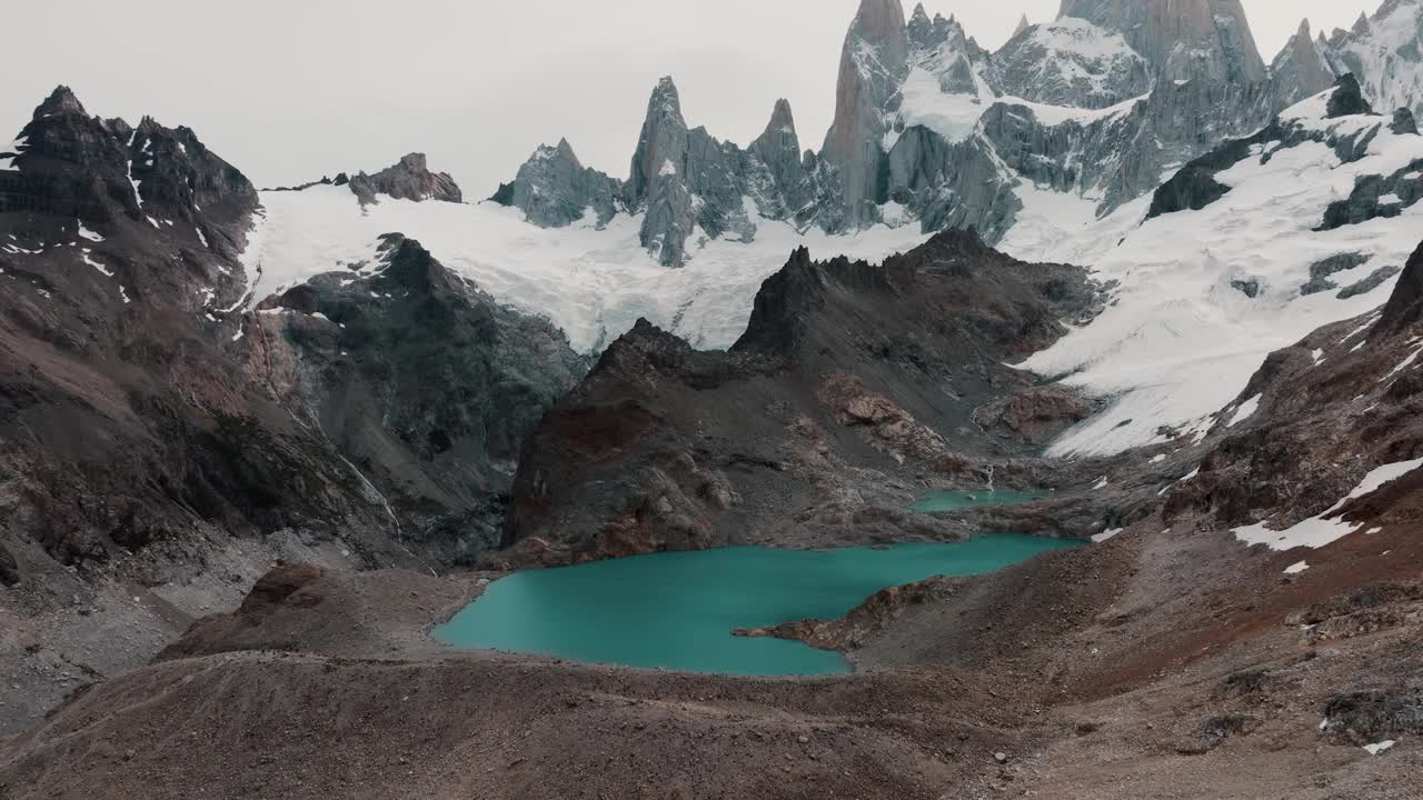
[[[882,268],[801,249],[730,352],[640,322],[603,353],[528,438],[505,557],[955,538],[905,511],[894,485],[1044,436],[1046,400],[986,426],[976,410],[1026,391],[1003,363],[1096,303],[1081,270],[1016,262],[973,233],[941,233]]]

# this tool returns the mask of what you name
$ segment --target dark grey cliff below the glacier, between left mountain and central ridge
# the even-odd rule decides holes
[[[551,323],[499,306],[418,242],[327,273],[259,319],[292,343],[300,396],[336,450],[441,562],[498,542],[524,437],[586,366]]]

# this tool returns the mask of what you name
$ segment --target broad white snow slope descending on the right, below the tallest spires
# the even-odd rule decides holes
[[[1214,174],[1225,194],[1197,211],[1143,222],[1151,198],[1141,198],[1099,221],[1070,196],[1020,192],[1027,208],[1003,249],[1090,265],[1116,282],[1097,320],[1022,364],[1117,396],[1107,413],[1057,441],[1056,453],[1113,453],[1174,431],[1204,433],[1269,352],[1387,299],[1392,275],[1423,235],[1423,177],[1413,172],[1423,137],[1393,132],[1392,117],[1328,118],[1333,91],[1282,114],[1271,128],[1278,138],[1255,137],[1242,158]],[[1229,147],[1208,158],[1232,161],[1221,155]],[[1369,177],[1385,178],[1380,189],[1402,185],[1405,196],[1385,195],[1356,215],[1372,219],[1318,229],[1333,204],[1358,196],[1360,179],[1372,185]]]

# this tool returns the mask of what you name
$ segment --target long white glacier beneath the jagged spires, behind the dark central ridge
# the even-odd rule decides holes
[[[683,269],[666,269],[642,248],[642,216],[618,215],[603,229],[591,214],[559,229],[528,225],[495,204],[462,205],[380,198],[364,209],[344,186],[263,192],[265,218],[243,263],[253,299],[313,275],[374,259],[377,236],[418,239],[445,266],[495,299],[548,316],[579,352],[601,350],[639,316],[697,347],[730,346],[746,330],[761,282],[808,246],[817,258],[881,260],[921,243],[918,226],[877,226],[855,236],[758,219],[751,243],[714,239]],[[757,219],[756,208],[748,215]],[[259,278],[260,275],[260,278]]]

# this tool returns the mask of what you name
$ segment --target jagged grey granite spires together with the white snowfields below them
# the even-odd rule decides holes
[[[1379,19],[1413,9],[1390,1]],[[332,186],[265,194],[245,262],[262,265],[270,290],[369,259],[379,235],[401,231],[551,319],[578,352],[602,350],[639,317],[723,349],[795,246],[878,260],[925,231],[973,226],[1025,260],[1081,263],[1118,283],[1100,320],[1025,364],[1117,397],[1059,447],[1158,441],[1207,424],[1271,349],[1389,289],[1386,268],[1416,243],[1405,167],[1423,140],[1389,105],[1331,115],[1332,61],[1308,28],[1265,68],[1238,3],[1063,10],[988,53],[953,19],[862,3],[831,131],[874,137],[861,172],[834,147],[800,152],[784,102],[746,148],[690,128],[666,80],[628,181],[583,167],[565,141],[541,148],[497,202],[361,209]],[[1194,44],[1167,51],[1171,37]],[[1372,101],[1372,78],[1355,84]],[[1328,137],[1271,124],[1291,105],[1284,120]],[[1342,131],[1349,121],[1379,132],[1359,138]],[[854,175],[872,185],[855,195]]]

